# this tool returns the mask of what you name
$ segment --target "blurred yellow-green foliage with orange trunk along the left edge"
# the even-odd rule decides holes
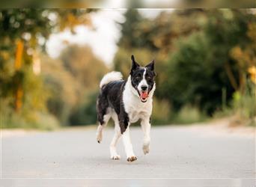
[[[45,76],[47,72],[38,74],[34,68],[40,66],[38,61],[42,62],[42,66],[46,65],[44,59],[40,59],[40,54],[44,53],[49,34],[64,28],[73,31],[80,24],[91,27],[91,19],[88,17],[91,11],[28,8],[0,10],[1,126],[54,129],[59,122],[66,124],[70,108],[76,105],[75,101],[69,101],[70,98],[61,97],[63,95],[59,92],[68,78],[60,76],[64,72],[55,71],[51,76],[58,73],[59,76],[51,79]],[[70,75],[67,73],[67,76]],[[76,80],[73,79],[73,82]],[[68,86],[65,91],[72,93]],[[70,97],[76,98],[76,93],[73,93]]]

